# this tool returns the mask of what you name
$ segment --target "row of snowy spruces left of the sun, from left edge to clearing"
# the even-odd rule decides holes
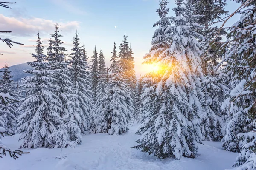
[[[8,66],[1,80],[1,93],[20,102],[1,105],[0,127],[7,133],[20,133],[22,148],[68,147],[81,144],[82,135],[90,133],[122,134],[134,119],[136,77],[133,51],[124,35],[119,54],[114,42],[111,66],[96,47],[91,65],[78,34],[73,37],[71,54],[61,40],[59,26],[51,34],[47,54],[39,36],[36,40],[32,76],[22,80],[25,98],[14,90]],[[67,59],[70,57],[71,59]]]

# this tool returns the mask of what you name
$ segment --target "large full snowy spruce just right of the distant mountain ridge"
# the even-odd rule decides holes
[[[43,51],[44,46],[38,32],[35,54],[32,54],[35,61],[27,62],[33,69],[25,71],[32,76],[23,79],[26,97],[21,101],[19,110],[22,114],[17,121],[17,133],[21,133],[21,147],[24,148],[54,147],[50,138],[61,123],[61,103],[58,96],[52,93],[52,89],[57,87],[48,77],[47,63],[44,62],[46,55]]]

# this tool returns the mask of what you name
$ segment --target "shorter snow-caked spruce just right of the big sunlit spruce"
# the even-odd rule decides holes
[[[214,76],[215,75],[215,76]],[[203,116],[201,119],[201,132],[203,140],[221,141],[225,135],[226,113],[221,110],[224,95],[230,89],[223,85],[221,71],[207,75],[203,78],[201,89],[204,97],[201,100]]]

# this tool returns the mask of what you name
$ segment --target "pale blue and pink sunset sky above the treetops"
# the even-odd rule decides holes
[[[228,1],[226,10],[233,12],[241,4]],[[1,38],[11,38],[24,45],[14,45],[9,48],[0,43],[0,68],[6,60],[9,66],[31,62],[35,40],[39,30],[43,44],[47,47],[54,23],[60,25],[63,45],[70,54],[72,37],[79,33],[81,43],[85,45],[87,56],[91,57],[96,46],[105,56],[106,65],[110,65],[113,43],[117,48],[128,36],[128,42],[134,51],[135,71],[137,76],[150,71],[150,65],[142,65],[143,56],[149,52],[151,38],[156,28],[152,25],[159,20],[156,9],[158,0],[17,0],[10,4],[12,9],[2,8],[0,12],[0,30],[12,31],[0,34]],[[171,9],[175,1],[169,0]],[[173,16],[172,10],[169,16]],[[225,26],[231,26],[239,19],[232,17]],[[45,50],[46,51],[46,50]]]

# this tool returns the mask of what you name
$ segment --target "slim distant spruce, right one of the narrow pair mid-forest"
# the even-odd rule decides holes
[[[107,70],[106,70],[106,65],[105,65],[105,58],[104,55],[102,54],[102,50],[99,52],[99,80],[98,80],[98,85],[96,88],[96,108],[97,108],[97,113],[99,116],[102,116],[101,113],[105,108],[104,104],[104,96],[106,95],[106,87],[107,87]]]

